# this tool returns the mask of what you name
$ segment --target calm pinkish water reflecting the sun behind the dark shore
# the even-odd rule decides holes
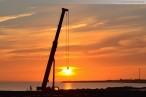
[[[0,82],[0,90],[10,91],[26,91],[29,90],[30,85],[33,90],[40,86],[40,82]],[[48,84],[52,86],[52,83]],[[107,87],[120,87],[120,86],[133,86],[133,87],[146,87],[146,83],[61,83],[56,82],[56,86],[60,89],[82,89],[82,88],[107,88]]]

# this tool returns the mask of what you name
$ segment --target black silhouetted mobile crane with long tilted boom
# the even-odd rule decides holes
[[[62,8],[62,13],[61,13],[59,25],[58,25],[58,28],[57,28],[57,31],[56,31],[55,39],[54,39],[53,44],[52,44],[52,49],[51,49],[51,52],[50,52],[50,57],[49,57],[48,64],[47,64],[47,67],[46,67],[46,71],[45,71],[44,79],[43,79],[43,82],[42,82],[42,86],[37,87],[37,90],[47,91],[47,90],[51,89],[50,87],[47,87],[47,82],[49,82],[48,78],[49,78],[49,75],[50,75],[52,64],[53,64],[53,62],[55,62],[54,56],[55,56],[55,52],[56,52],[56,48],[57,48],[57,44],[58,44],[58,38],[59,38],[60,30],[61,30],[61,27],[62,27],[64,15],[65,15],[65,12],[67,12],[67,11],[68,11],[68,9]],[[53,90],[54,90],[54,86],[53,86]]]

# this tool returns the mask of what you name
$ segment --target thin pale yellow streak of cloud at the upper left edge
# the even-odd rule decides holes
[[[34,14],[34,12],[32,12],[32,13],[25,13],[25,14],[19,14],[19,15],[2,16],[2,17],[0,17],[0,22],[12,20],[12,19],[17,19],[17,18],[21,18],[21,17],[27,17],[27,16],[31,16],[33,14]]]

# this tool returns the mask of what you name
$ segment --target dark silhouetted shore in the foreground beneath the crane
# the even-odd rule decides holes
[[[58,91],[0,91],[0,97],[145,97],[146,87],[108,87]]]

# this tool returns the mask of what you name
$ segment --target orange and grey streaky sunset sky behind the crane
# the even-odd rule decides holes
[[[137,79],[138,68],[146,79],[146,5],[0,0],[0,81],[42,81],[62,7],[70,11],[74,74],[58,74],[67,66],[64,21],[55,55],[57,81]]]

